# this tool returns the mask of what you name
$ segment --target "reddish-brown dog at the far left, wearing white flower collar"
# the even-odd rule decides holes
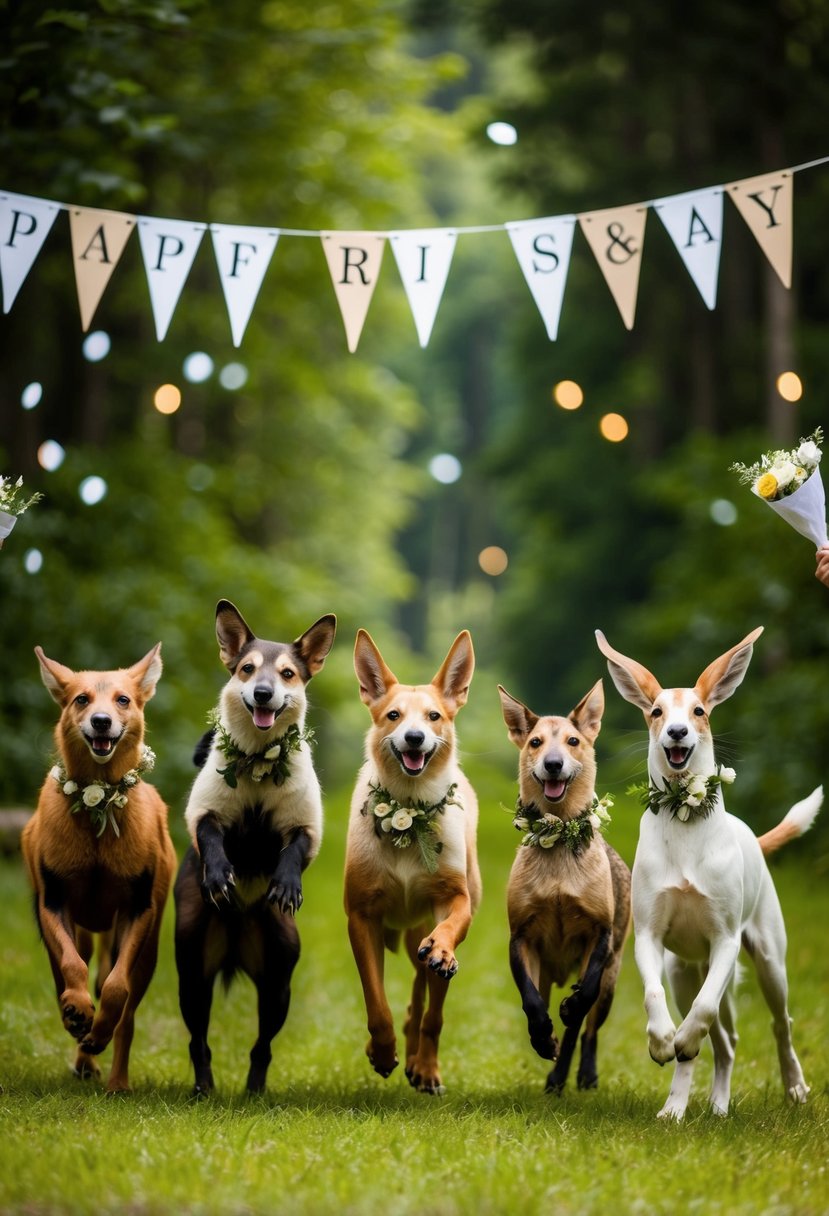
[[[95,1057],[113,1040],[109,1093],[129,1090],[135,1009],[156,969],[175,871],[167,806],[141,778],[152,766],[143,706],[162,674],[159,649],[125,670],[71,671],[35,648],[61,706],[58,764],[23,831],[23,858],[63,1025],[79,1042],[74,1071],[97,1075]],[[97,1013],[89,992],[94,934]]]

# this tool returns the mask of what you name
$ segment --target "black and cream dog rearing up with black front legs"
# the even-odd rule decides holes
[[[208,1046],[216,975],[256,986],[259,1034],[247,1088],[265,1088],[271,1041],[291,1002],[299,958],[294,913],[301,873],[322,835],[322,798],[305,731],[305,686],[321,670],[337,620],[321,617],[294,642],[255,637],[230,601],[216,606],[219,657],[230,671],[185,820],[192,845],[175,883],[179,1003],[190,1031],[193,1092],[214,1087]]]

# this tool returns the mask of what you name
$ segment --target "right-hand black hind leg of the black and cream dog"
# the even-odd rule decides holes
[[[271,1042],[282,1030],[291,1004],[291,976],[299,958],[299,933],[293,919],[263,906],[252,931],[239,941],[242,967],[256,985],[259,1034],[250,1048],[247,1090],[261,1093],[271,1063]]]

